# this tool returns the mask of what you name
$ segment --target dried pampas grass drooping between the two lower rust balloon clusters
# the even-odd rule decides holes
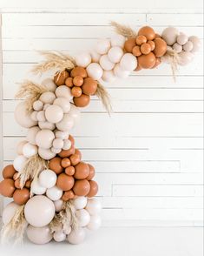
[[[36,180],[38,174],[48,168],[48,161],[41,158],[39,155],[35,155],[25,162],[22,172],[18,172],[18,178],[20,178],[20,186],[23,188],[28,179]],[[32,196],[32,190],[30,189],[30,197]]]

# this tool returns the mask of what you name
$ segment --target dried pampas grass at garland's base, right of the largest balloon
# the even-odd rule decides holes
[[[72,200],[63,203],[63,210],[56,213],[55,218],[49,224],[51,232],[56,232],[62,229],[66,232],[69,231],[69,226],[71,226],[73,230],[78,228],[76,209]]]

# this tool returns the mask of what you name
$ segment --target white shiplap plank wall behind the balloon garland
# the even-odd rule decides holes
[[[0,6],[4,165],[15,158],[25,134],[13,117],[15,83],[32,77],[28,71],[41,59],[36,50],[90,49],[98,37],[111,36],[110,20],[135,29],[148,24],[158,32],[174,25],[189,35],[203,35],[201,1],[125,1],[115,8],[115,1],[93,6],[61,0],[57,9],[54,1],[37,6],[19,1],[18,7],[7,2]],[[82,110],[73,134],[82,158],[96,167],[105,225],[201,225],[202,70],[201,51],[180,69],[175,84],[166,64],[107,84],[115,111],[111,118],[97,98]]]

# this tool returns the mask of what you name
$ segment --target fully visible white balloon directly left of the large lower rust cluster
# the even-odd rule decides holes
[[[46,188],[56,185],[56,172],[49,169],[43,170],[39,175],[39,183]]]

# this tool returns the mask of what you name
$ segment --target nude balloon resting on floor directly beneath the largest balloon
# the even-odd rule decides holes
[[[29,225],[26,229],[28,239],[36,245],[44,245],[52,239],[49,226],[35,227]]]

